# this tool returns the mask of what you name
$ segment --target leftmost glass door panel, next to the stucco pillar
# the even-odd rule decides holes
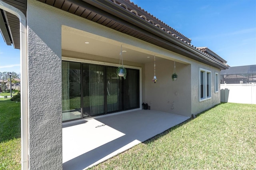
[[[80,63],[62,61],[62,121],[81,119]]]

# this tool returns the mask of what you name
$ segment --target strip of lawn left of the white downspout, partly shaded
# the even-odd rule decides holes
[[[20,102],[0,101],[0,170],[21,169]]]

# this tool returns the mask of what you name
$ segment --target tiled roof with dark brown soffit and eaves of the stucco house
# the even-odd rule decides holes
[[[8,4],[22,10],[26,15],[27,0],[4,0]],[[71,14],[96,22],[118,32],[133,36],[148,43],[174,51],[185,57],[211,65],[219,69],[227,69],[226,61],[217,54],[211,55],[194,45],[191,39],[174,30],[158,18],[152,16],[130,0],[38,0]],[[18,5],[17,5],[18,4]],[[1,10],[2,23],[0,30],[6,40],[10,39],[15,48],[19,48],[19,20],[11,20],[8,12]],[[1,20],[0,20],[1,22]],[[14,22],[8,24],[8,22]],[[13,41],[12,41],[13,40]],[[15,40],[15,41],[14,41]],[[17,43],[15,43],[17,42]],[[6,41],[8,45],[8,41]],[[212,52],[213,54],[213,52]]]

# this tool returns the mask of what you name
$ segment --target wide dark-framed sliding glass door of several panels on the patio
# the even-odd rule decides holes
[[[139,108],[139,70],[126,71],[124,80],[116,67],[62,61],[62,121]]]

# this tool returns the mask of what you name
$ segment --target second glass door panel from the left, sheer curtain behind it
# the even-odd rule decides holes
[[[83,117],[105,114],[104,69],[102,65],[83,64]]]

